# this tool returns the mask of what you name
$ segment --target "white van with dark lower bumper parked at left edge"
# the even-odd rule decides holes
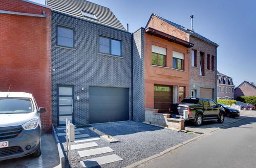
[[[0,161],[41,155],[40,114],[32,94],[0,92]]]

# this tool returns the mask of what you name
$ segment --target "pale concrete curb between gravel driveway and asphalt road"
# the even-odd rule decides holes
[[[223,127],[226,127],[226,126],[228,126],[228,125],[230,125],[230,124],[232,124],[232,123],[236,123],[236,122],[238,122],[238,121],[244,120],[244,119],[246,119],[246,118],[248,118],[248,117],[245,116],[245,117],[242,118],[242,119],[239,119],[239,120],[233,121],[233,122],[231,122],[231,123],[228,123],[227,125],[224,125],[224,126],[222,126],[222,127],[220,127],[220,128],[217,128],[216,130],[213,130],[213,131],[211,131],[211,132],[209,132],[209,133],[202,134],[202,135],[199,135],[199,136],[197,136],[197,137],[188,139],[187,141],[185,141],[185,142],[183,142],[183,143],[180,143],[180,144],[178,144],[178,145],[176,145],[176,146],[170,147],[170,148],[168,148],[168,149],[166,149],[166,150],[160,152],[159,154],[156,154],[156,155],[147,157],[147,158],[142,159],[142,160],[140,160],[140,161],[137,161],[137,162],[135,162],[135,163],[133,163],[133,164],[130,164],[130,165],[124,167],[124,168],[136,167],[136,166],[138,166],[139,164],[142,164],[142,163],[144,163],[144,162],[146,162],[146,161],[150,161],[150,160],[155,159],[155,158],[157,158],[157,157],[159,157],[159,156],[162,156],[162,155],[164,155],[164,154],[166,154],[166,153],[168,153],[168,152],[171,152],[171,151],[173,151],[173,150],[176,150],[176,149],[178,149],[178,148],[180,148],[180,147],[182,147],[182,146],[184,146],[184,145],[186,145],[186,144],[188,144],[188,143],[190,143],[190,142],[196,141],[198,138],[201,138],[201,137],[203,137],[203,136],[205,136],[205,135],[208,135],[208,134],[210,134],[210,133],[212,133],[212,132],[215,132],[215,131],[217,131],[217,130],[223,128]]]

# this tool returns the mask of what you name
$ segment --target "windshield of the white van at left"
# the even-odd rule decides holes
[[[31,113],[33,110],[30,98],[0,98],[0,114]]]

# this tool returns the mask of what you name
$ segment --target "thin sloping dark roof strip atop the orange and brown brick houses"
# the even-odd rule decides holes
[[[209,39],[203,37],[202,35],[200,35],[200,34],[194,32],[194,31],[191,31],[191,30],[187,29],[186,27],[184,27],[184,26],[182,26],[182,25],[179,25],[179,24],[176,24],[176,23],[174,23],[174,22],[172,22],[172,21],[166,20],[165,18],[162,18],[161,16],[158,16],[158,15],[156,15],[156,14],[154,14],[154,13],[151,15],[151,17],[152,17],[152,16],[156,16],[157,18],[159,18],[159,19],[165,21],[166,23],[168,23],[168,24],[170,24],[170,25],[172,25],[172,26],[175,26],[177,29],[179,29],[179,30],[181,30],[181,31],[183,31],[183,32],[185,32],[185,33],[191,35],[191,36],[197,37],[197,38],[199,38],[199,39],[201,39],[201,40],[203,40],[203,41],[206,41],[206,42],[208,42],[208,43],[210,43],[210,44],[212,44],[212,45],[219,46],[219,45],[216,44],[215,42],[210,41]],[[150,19],[151,19],[151,18],[150,18]]]

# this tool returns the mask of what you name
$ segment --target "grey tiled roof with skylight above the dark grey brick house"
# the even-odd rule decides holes
[[[84,20],[97,22],[100,24],[108,25],[116,29],[124,30],[123,25],[116,18],[109,8],[91,3],[84,0],[47,0],[47,5],[52,7],[53,11],[63,14],[68,14]],[[89,17],[84,17],[82,11],[94,14],[98,20]]]

